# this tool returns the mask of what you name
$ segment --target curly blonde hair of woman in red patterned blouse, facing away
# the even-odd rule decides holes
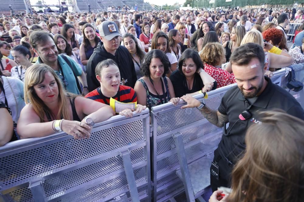
[[[225,49],[218,42],[207,43],[202,49],[199,57],[203,63],[207,63],[212,66],[219,65],[221,62],[226,61]]]

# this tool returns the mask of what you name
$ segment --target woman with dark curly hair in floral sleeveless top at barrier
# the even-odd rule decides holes
[[[134,87],[138,104],[147,106],[151,110],[152,107],[160,104],[179,102],[179,98],[175,98],[170,79],[165,76],[170,65],[163,51],[155,49],[147,53],[140,67],[143,77],[136,81]]]

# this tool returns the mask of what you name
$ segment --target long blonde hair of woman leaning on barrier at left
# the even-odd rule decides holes
[[[46,113],[52,114],[46,104],[38,97],[34,86],[41,84],[45,79],[45,74],[50,72],[58,86],[58,114],[54,114],[56,119],[70,120],[70,111],[65,96],[65,91],[62,87],[61,81],[52,68],[46,64],[35,64],[26,70],[24,78],[24,100],[26,104],[32,104],[36,114],[39,116],[41,122],[45,122],[43,117]]]

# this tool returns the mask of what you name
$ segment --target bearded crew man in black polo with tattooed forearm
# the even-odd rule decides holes
[[[217,127],[226,126],[229,122],[229,127],[224,127],[224,135],[214,151],[210,167],[212,191],[220,186],[230,187],[233,165],[246,148],[247,128],[252,124],[262,124],[259,111],[278,108],[304,120],[304,111],[299,102],[264,76],[267,63],[260,45],[248,43],[238,47],[231,55],[230,62],[237,86],[226,92],[218,110],[208,108],[204,101],[200,102],[192,96],[181,97],[187,102],[181,108],[197,107]]]

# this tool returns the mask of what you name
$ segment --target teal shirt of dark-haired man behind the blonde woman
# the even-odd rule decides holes
[[[71,65],[72,65],[72,69],[75,72],[76,76],[81,76],[82,74],[82,69],[81,67],[69,56],[66,56],[67,59],[70,61]],[[78,88],[77,88],[77,84],[76,84],[76,80],[73,74],[73,71],[71,70],[71,68],[69,67],[69,65],[64,61],[64,59],[62,58],[61,55],[58,55],[58,62],[62,68],[63,74],[64,74],[64,79],[67,81],[67,91],[74,93],[74,94],[80,94]],[[41,61],[40,56],[38,57],[38,60],[36,61],[35,64],[40,64],[43,63]],[[56,73],[58,71],[55,71]],[[60,72],[61,73],[61,72]]]

